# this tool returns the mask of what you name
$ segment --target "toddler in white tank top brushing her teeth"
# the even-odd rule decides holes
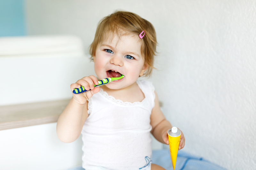
[[[169,144],[172,128],[159,107],[154,86],[140,76],[150,76],[156,52],[156,33],[150,22],[125,11],[103,18],[97,27],[90,53],[99,79],[120,77],[98,85],[91,75],[71,84],[84,86],[73,94],[57,122],[62,142],[73,142],[82,133],[83,168],[86,170],[164,169],[152,164],[150,133]],[[180,146],[185,145],[181,132]],[[171,160],[170,160],[171,161]]]

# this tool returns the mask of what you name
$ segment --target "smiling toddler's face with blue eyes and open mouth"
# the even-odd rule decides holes
[[[107,84],[109,89],[123,89],[133,85],[148,68],[140,48],[139,35],[124,35],[121,39],[115,35],[103,40],[93,56],[96,75],[99,79],[120,77],[121,74],[125,76]]]

